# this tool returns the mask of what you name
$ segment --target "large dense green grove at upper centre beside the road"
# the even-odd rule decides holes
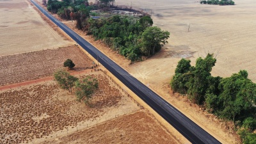
[[[152,24],[148,16],[136,19],[115,15],[86,21],[88,35],[93,35],[95,40],[102,40],[131,61],[140,60],[143,55],[155,54],[167,42],[170,33],[151,27]]]

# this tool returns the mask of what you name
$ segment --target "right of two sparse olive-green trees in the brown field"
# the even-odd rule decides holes
[[[99,88],[97,79],[87,76],[81,81],[76,81],[76,97],[77,101],[84,101],[88,104],[90,98],[92,98],[92,93]]]

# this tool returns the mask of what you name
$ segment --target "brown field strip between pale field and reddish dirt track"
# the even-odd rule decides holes
[[[76,71],[92,67],[92,61],[76,46],[0,56],[0,86],[52,75],[68,58],[75,63]]]

